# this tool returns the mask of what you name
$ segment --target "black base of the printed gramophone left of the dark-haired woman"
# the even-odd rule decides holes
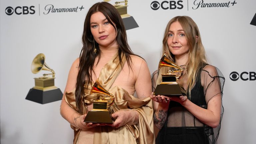
[[[48,91],[32,88],[29,90],[26,99],[40,104],[46,104],[61,100],[62,96],[63,94],[59,88]]]

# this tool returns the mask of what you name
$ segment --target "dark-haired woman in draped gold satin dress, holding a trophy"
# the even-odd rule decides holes
[[[150,72],[144,59],[131,51],[122,18],[113,5],[100,2],[89,9],[82,41],[60,106],[61,115],[74,129],[74,144],[154,143]],[[115,97],[110,106],[116,119],[113,124],[83,122],[92,101],[99,99],[90,95],[95,81]]]

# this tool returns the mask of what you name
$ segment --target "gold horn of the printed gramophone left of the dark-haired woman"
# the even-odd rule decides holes
[[[45,63],[45,55],[40,53],[38,54],[32,61],[31,64],[31,71],[32,73],[36,74],[41,70],[47,70],[52,72],[52,77],[55,76],[55,72],[53,71],[53,69],[51,69],[46,63]],[[46,76],[48,74],[44,74],[44,76]]]

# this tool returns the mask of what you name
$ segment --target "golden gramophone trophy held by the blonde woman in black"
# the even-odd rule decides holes
[[[162,82],[156,86],[153,95],[165,95],[165,96],[181,96],[187,95],[185,89],[177,83],[177,79],[181,78],[183,69],[172,62],[166,53],[163,54],[158,69],[162,67],[171,67],[167,74],[162,74]]]

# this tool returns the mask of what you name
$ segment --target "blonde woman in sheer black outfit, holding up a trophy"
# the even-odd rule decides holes
[[[184,73],[177,82],[186,96],[150,96],[154,101],[154,123],[160,129],[159,144],[216,144],[223,115],[222,94],[225,78],[207,64],[196,23],[188,16],[176,16],[166,26],[163,53]],[[163,67],[152,74],[152,89],[162,81]]]

